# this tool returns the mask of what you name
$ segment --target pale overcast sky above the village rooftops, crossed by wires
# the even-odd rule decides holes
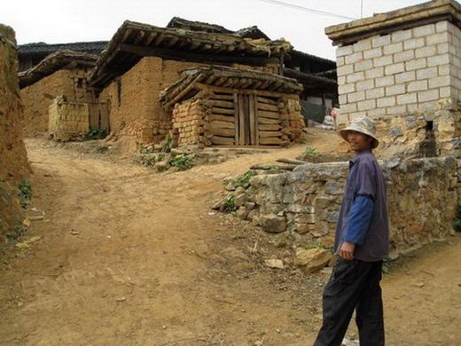
[[[361,0],[281,1],[357,19],[361,16]],[[363,17],[424,2],[363,0]],[[324,28],[349,21],[262,0],[17,0],[2,3],[0,23],[15,29],[20,44],[108,41],[123,20],[164,27],[172,17],[178,16],[231,30],[256,25],[272,39],[284,37],[300,51],[334,59],[334,48],[324,35]]]

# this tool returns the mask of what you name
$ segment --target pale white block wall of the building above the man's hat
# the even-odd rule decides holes
[[[448,21],[372,36],[336,56],[342,119],[461,100],[461,30]]]

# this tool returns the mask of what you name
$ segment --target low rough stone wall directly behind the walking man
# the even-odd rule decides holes
[[[394,255],[453,232],[457,163],[452,157],[381,162]],[[331,245],[348,162],[306,164],[293,172],[252,177],[239,210],[267,232],[289,232],[304,243]],[[459,179],[459,181],[458,181]],[[247,210],[245,210],[247,208]]]

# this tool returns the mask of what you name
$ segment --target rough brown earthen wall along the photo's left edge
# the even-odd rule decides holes
[[[18,185],[27,179],[29,166],[22,141],[22,104],[18,57],[12,28],[0,25],[0,242],[20,226],[22,208]]]

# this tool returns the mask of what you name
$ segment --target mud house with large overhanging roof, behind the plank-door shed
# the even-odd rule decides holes
[[[236,34],[159,28],[125,21],[113,35],[90,76],[99,100],[110,109],[114,136],[127,143],[160,142],[173,128],[159,94],[191,67],[225,65],[279,73],[285,40],[267,41]]]

